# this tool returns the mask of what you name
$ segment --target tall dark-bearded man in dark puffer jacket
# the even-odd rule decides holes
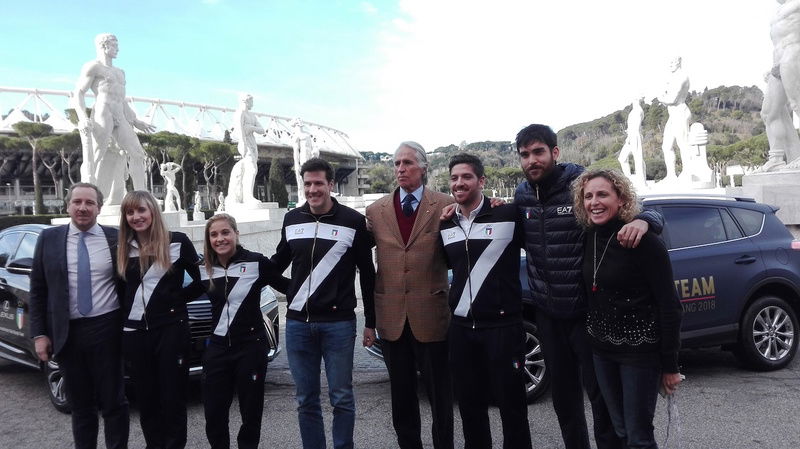
[[[592,352],[586,339],[586,299],[582,287],[583,229],[572,213],[571,184],[583,172],[575,164],[558,164],[556,134],[546,125],[530,125],[516,138],[527,181],[514,193],[522,215],[528,282],[536,306],[545,364],[552,379],[553,408],[567,449],[589,449],[581,383],[592,404],[598,449],[621,448],[597,386]],[[660,214],[645,211],[617,238],[638,245],[652,228],[661,232]]]

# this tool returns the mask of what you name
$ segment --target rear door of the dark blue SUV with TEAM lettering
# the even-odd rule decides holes
[[[759,248],[724,207],[663,206],[661,211],[683,306],[683,338],[735,332],[743,296],[764,277]]]

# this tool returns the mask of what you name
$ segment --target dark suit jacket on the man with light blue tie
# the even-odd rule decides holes
[[[100,226],[106,234],[114,276],[117,277],[116,228]],[[69,333],[69,281],[67,280],[67,232],[69,225],[47,228],[39,235],[33,253],[31,271],[31,337],[46,335],[53,344],[53,354],[64,347]],[[117,280],[117,294],[120,282]],[[120,323],[121,326],[121,323]]]

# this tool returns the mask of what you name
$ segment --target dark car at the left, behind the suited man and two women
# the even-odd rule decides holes
[[[48,225],[19,225],[0,231],[0,357],[45,372],[50,400],[56,409],[67,412],[63,380],[54,361],[42,363],[36,357],[28,322],[28,293],[33,250],[39,233]],[[186,276],[184,283],[191,281]],[[192,336],[189,375],[201,373],[206,339],[211,335],[211,303],[203,295],[187,305]],[[280,353],[278,300],[269,287],[261,290],[261,314],[267,330],[271,361]]]

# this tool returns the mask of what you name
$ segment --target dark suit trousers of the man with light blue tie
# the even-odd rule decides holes
[[[128,447],[128,400],[122,369],[119,310],[69,322],[69,334],[56,361],[72,408],[76,449],[95,449],[98,410],[103,415],[106,448]]]

